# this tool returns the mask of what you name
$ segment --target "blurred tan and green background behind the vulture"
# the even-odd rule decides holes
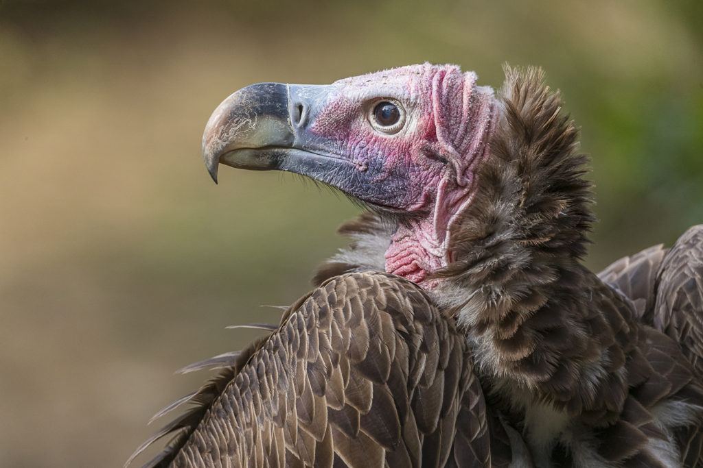
[[[197,6],[196,6],[197,5]],[[278,321],[343,240],[344,199],[200,157],[258,81],[541,65],[597,186],[589,264],[703,222],[703,2],[0,3],[0,466],[121,466],[181,366]],[[153,453],[153,452],[152,452]]]

